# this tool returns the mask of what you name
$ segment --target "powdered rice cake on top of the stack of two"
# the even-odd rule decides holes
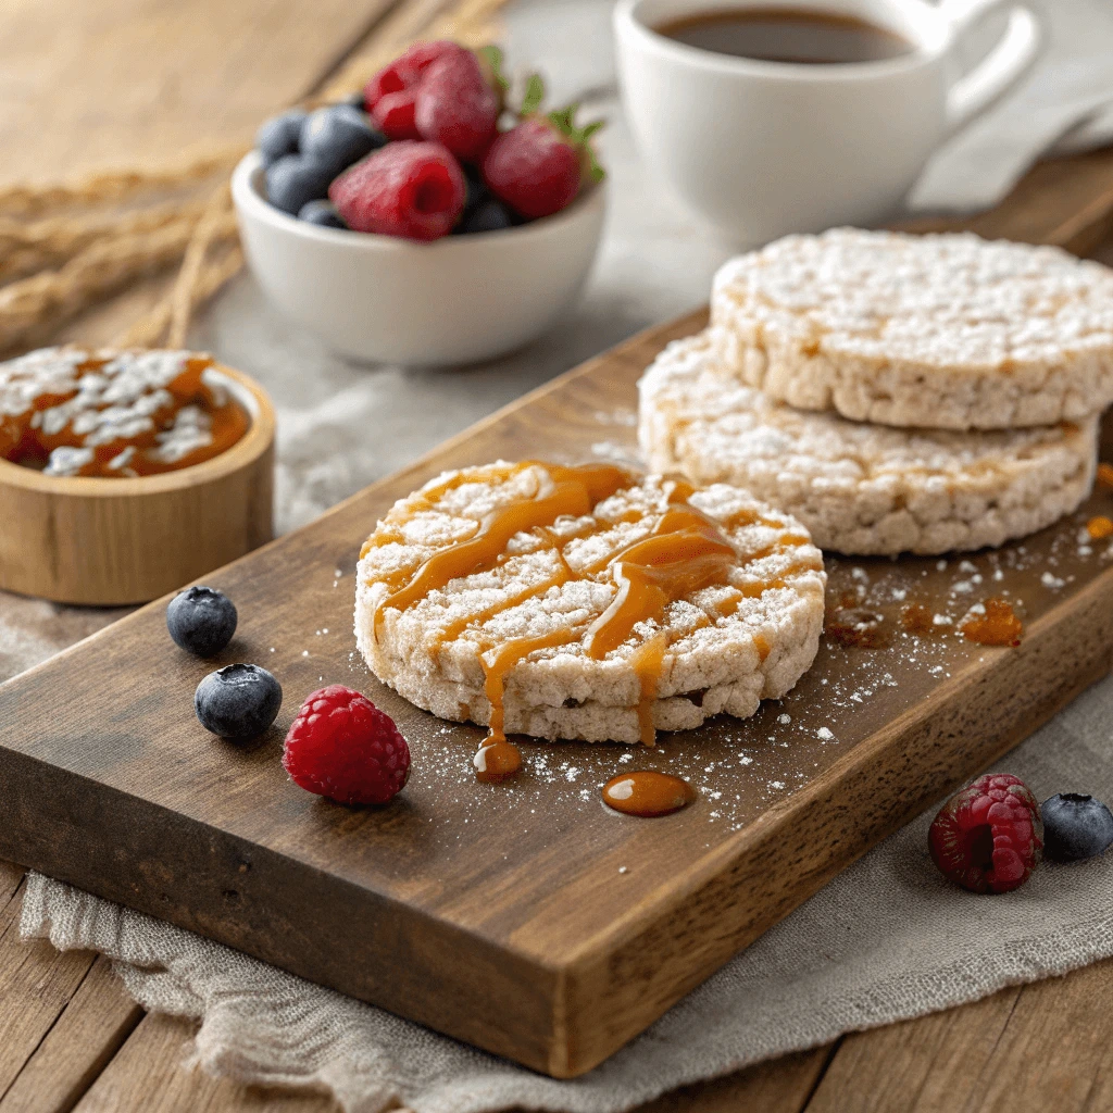
[[[711,323],[746,385],[855,421],[1018,429],[1113,402],[1113,272],[1055,247],[788,236],[720,268]]]

